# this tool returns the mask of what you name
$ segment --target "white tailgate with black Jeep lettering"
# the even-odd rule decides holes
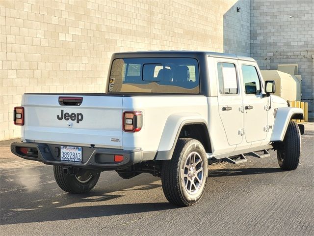
[[[76,106],[62,102],[71,97],[82,98],[82,101]],[[24,139],[122,148],[122,100],[122,96],[105,94],[24,94]]]

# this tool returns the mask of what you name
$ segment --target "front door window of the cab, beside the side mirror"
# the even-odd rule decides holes
[[[261,82],[255,66],[242,65],[243,84],[246,94],[260,94]]]

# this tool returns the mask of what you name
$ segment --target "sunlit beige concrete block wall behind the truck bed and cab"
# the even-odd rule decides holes
[[[0,140],[20,136],[12,111],[25,92],[104,92],[114,52],[223,52],[224,39],[249,41],[246,28],[235,35],[234,25],[224,25],[230,9],[226,20],[240,16],[236,2],[0,0]]]

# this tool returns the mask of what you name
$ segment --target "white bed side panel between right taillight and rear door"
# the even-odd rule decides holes
[[[130,96],[123,98],[123,112],[142,111],[143,127],[139,132],[123,132],[124,149],[142,148],[144,151],[157,151],[161,142],[162,149],[171,149],[173,142],[161,140],[166,122],[174,114],[208,120],[207,98],[202,95],[167,95],[167,96]],[[173,125],[177,124],[173,122]],[[176,136],[177,133],[173,135]],[[166,143],[168,142],[168,146]],[[171,143],[172,142],[172,143]]]

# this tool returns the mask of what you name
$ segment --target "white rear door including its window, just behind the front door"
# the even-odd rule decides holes
[[[222,120],[229,145],[242,142],[242,96],[238,82],[237,60],[215,59],[218,78],[219,116]]]

